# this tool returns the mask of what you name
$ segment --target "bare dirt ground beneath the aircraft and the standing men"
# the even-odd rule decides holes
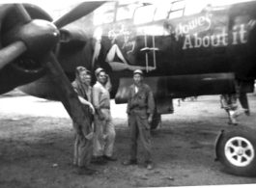
[[[249,94],[251,116],[239,122],[255,125],[256,94]],[[86,188],[86,187],[172,187],[194,185],[254,184],[256,177],[229,175],[214,161],[214,141],[228,126],[220,109],[219,95],[185,101],[175,113],[162,116],[161,129],[153,132],[156,168],[142,163],[124,167],[128,158],[126,105],[112,105],[116,125],[115,155],[118,161],[92,165],[97,175],[76,175],[72,167],[71,119],[60,102],[13,91],[0,98],[0,187]],[[142,148],[138,159],[142,162]]]

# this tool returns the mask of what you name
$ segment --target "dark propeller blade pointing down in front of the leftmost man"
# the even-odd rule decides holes
[[[46,57],[43,58],[42,63],[47,69],[47,75],[52,80],[56,94],[60,97],[64,107],[71,116],[72,121],[74,121],[76,125],[87,124],[88,127],[90,127],[90,122],[87,118],[89,115],[87,115],[87,111],[83,109],[77,94],[71,86],[71,82],[54,54],[49,52]],[[78,130],[77,127],[74,128]]]

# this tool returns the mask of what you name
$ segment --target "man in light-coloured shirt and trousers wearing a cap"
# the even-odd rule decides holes
[[[93,104],[95,114],[95,163],[104,164],[105,161],[116,161],[113,155],[116,137],[115,127],[110,114],[110,78],[104,69],[99,67],[95,71],[97,83],[93,86]]]

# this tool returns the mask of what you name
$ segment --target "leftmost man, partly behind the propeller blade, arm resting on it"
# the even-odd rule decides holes
[[[95,109],[91,103],[92,88],[88,73],[85,67],[76,67],[76,79],[71,83],[74,91],[78,94],[80,102],[83,104],[83,108],[89,115],[90,121],[90,126],[81,125],[75,132],[73,164],[77,166],[77,173],[79,175],[92,175],[95,173],[95,171],[88,168],[92,158],[93,141],[88,139],[87,136],[92,132],[92,114],[95,114]],[[77,127],[77,125],[74,124],[73,127]]]

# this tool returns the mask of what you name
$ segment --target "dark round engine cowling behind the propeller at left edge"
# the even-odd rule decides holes
[[[52,21],[48,13],[35,5],[24,4],[24,8],[32,19]],[[12,4],[0,6],[0,25],[1,50],[18,38],[19,34],[14,33],[14,31],[22,25]],[[0,69],[0,94],[7,93],[20,85],[33,82],[43,77],[44,74],[45,70],[40,63],[40,56],[29,52],[24,53],[12,63]]]

